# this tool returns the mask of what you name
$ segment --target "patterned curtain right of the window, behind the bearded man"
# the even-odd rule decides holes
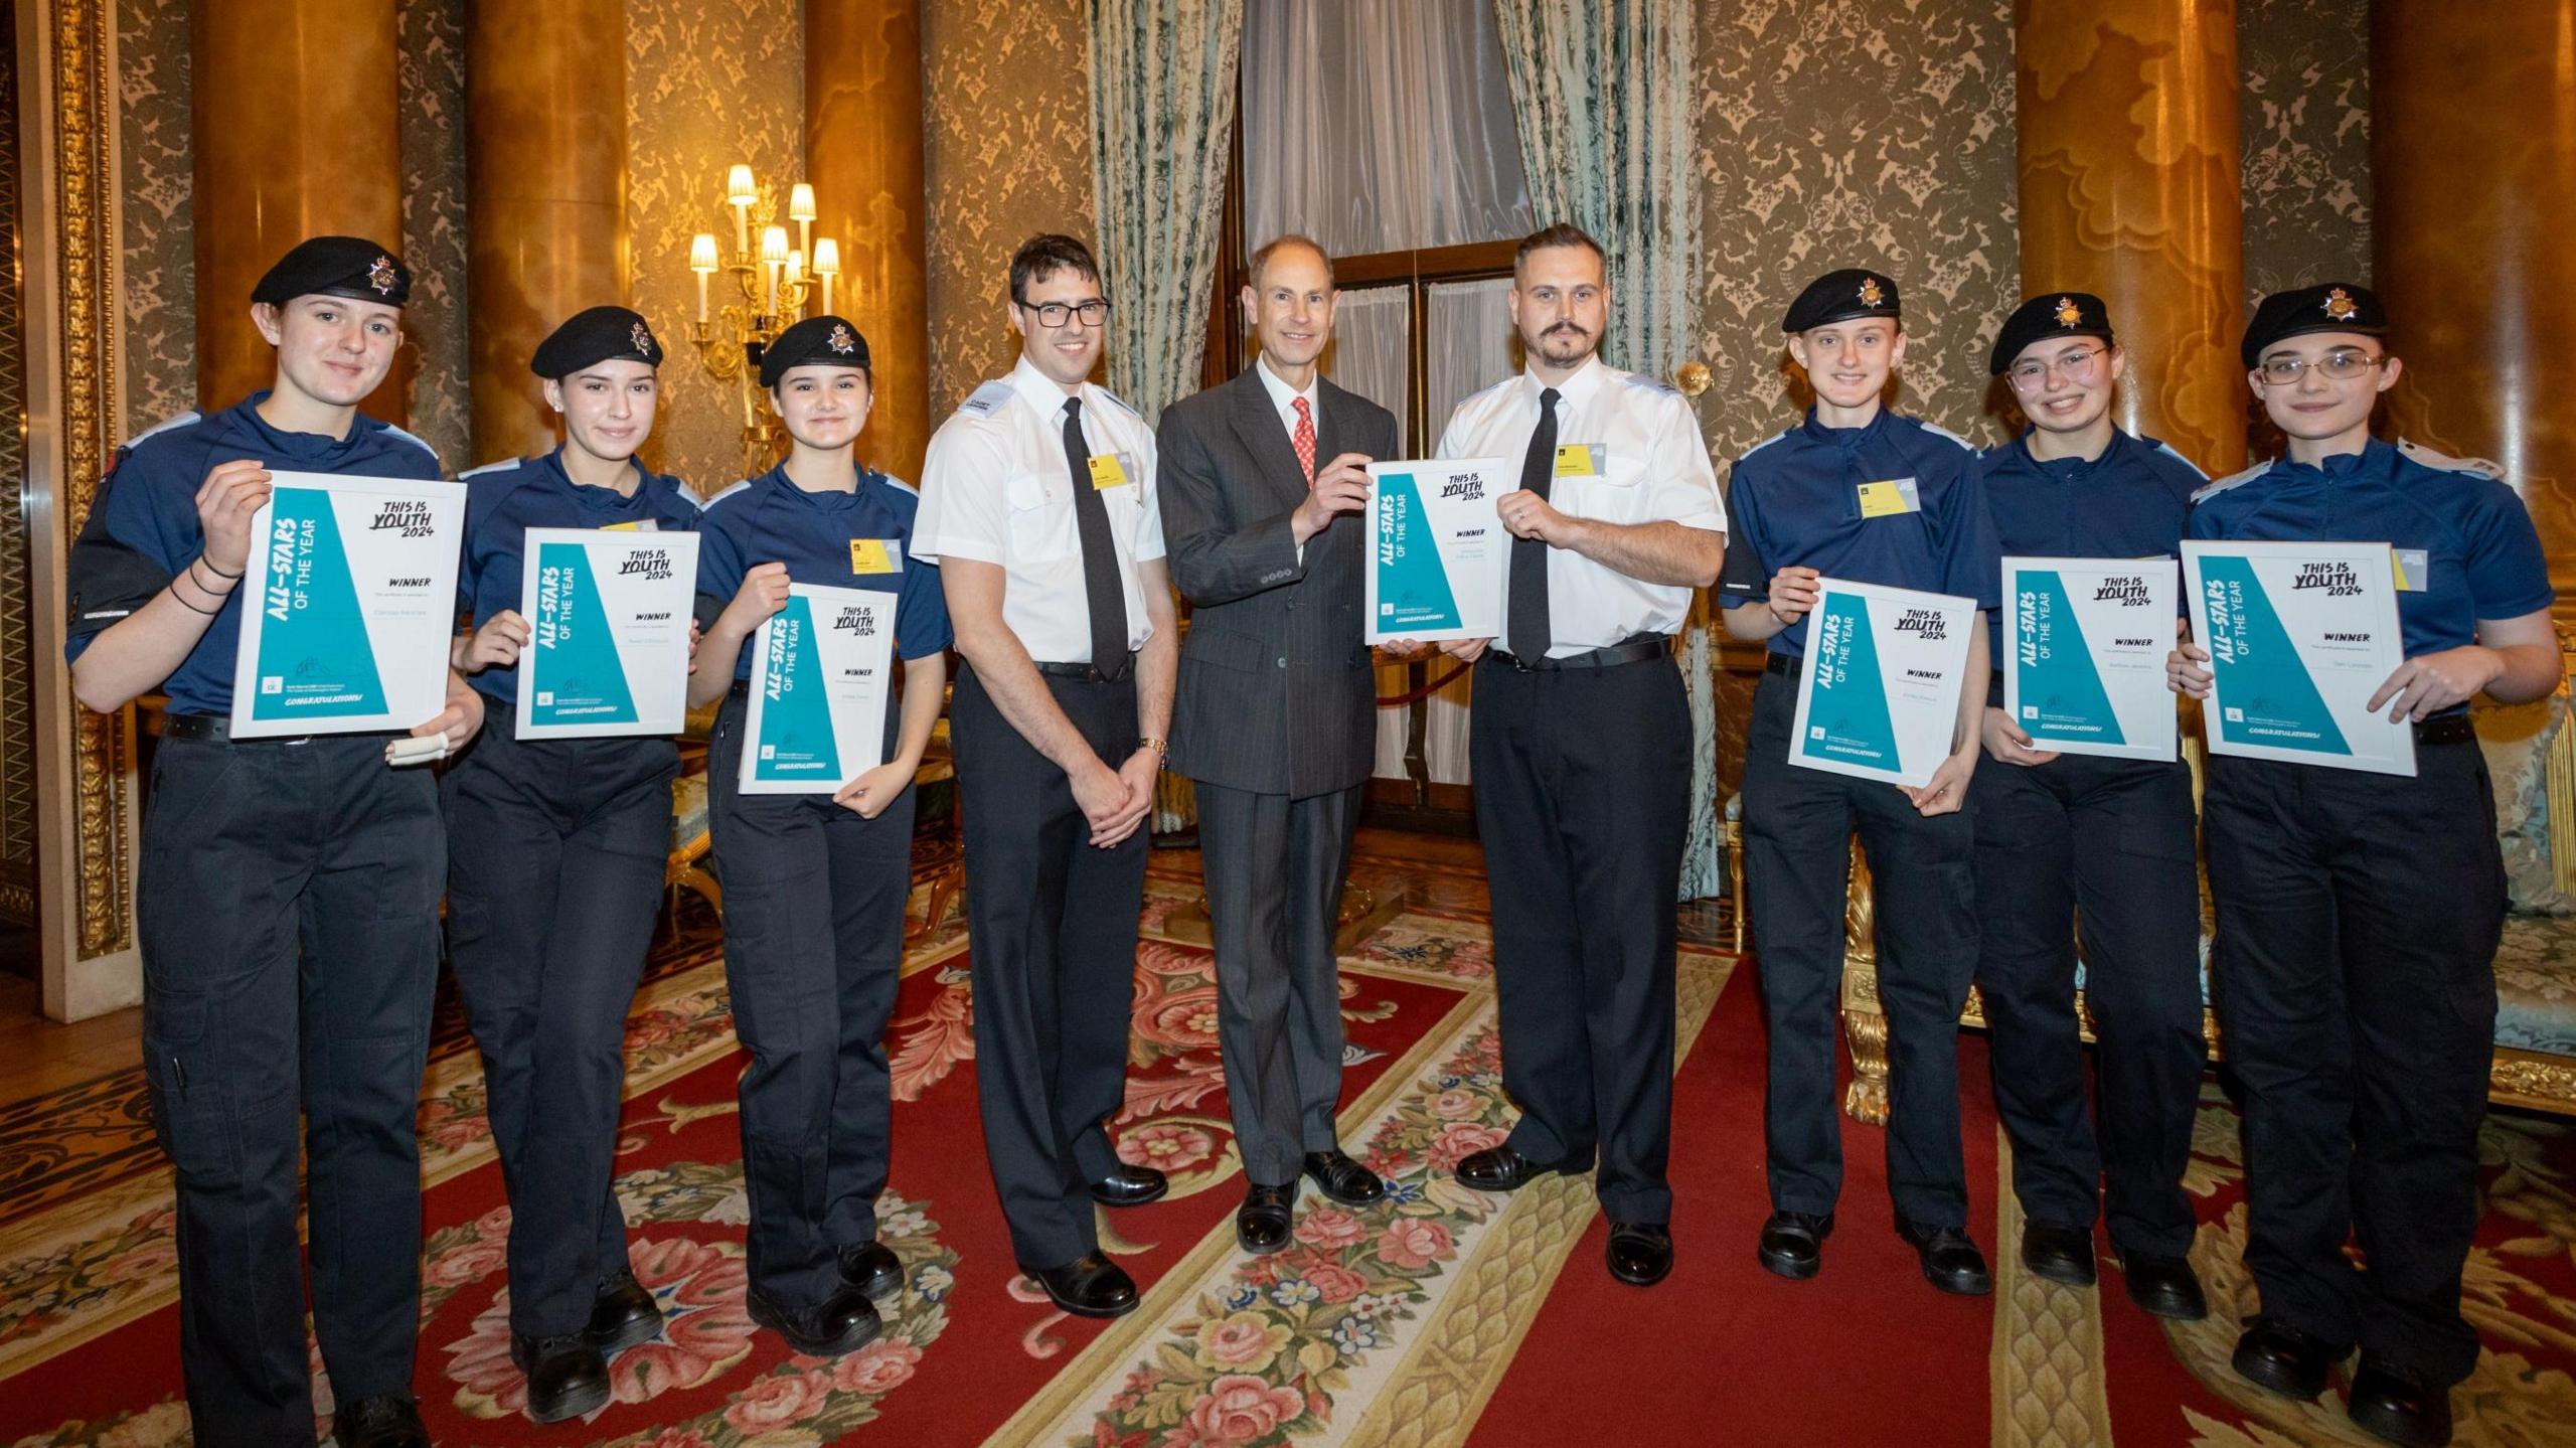
[[[1698,353],[1700,193],[1692,173],[1690,0],[1494,0],[1520,165],[1538,224],[1610,252],[1602,361],[1669,379]],[[1716,642],[1705,600],[1682,639],[1690,688],[1690,848],[1682,899],[1718,894]]]

